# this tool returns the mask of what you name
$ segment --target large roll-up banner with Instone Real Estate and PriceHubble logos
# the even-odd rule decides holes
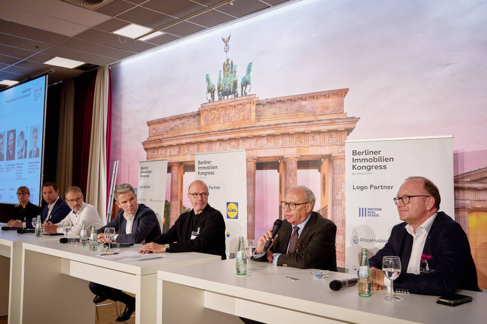
[[[407,177],[423,176],[440,190],[440,211],[454,218],[453,136],[345,140],[345,266],[357,269],[401,220],[393,198]]]

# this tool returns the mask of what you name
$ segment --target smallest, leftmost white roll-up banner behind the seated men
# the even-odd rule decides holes
[[[139,161],[137,202],[152,209],[162,228],[166,201],[168,160]]]

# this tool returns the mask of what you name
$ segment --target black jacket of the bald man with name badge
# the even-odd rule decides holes
[[[191,226],[190,216],[194,216],[192,209],[179,215],[174,225],[166,233],[154,239],[154,243],[169,243],[171,253],[200,252],[222,256],[222,260],[225,260],[225,220],[222,213],[207,204],[205,209],[196,215],[194,231],[196,232],[199,227],[200,234],[195,239],[188,237]]]

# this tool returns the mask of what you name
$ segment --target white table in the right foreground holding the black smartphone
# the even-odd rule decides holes
[[[330,290],[311,270],[252,262],[261,268],[237,276],[235,259],[159,271],[157,323],[239,323],[236,316],[264,323],[485,323],[487,294],[462,290],[473,302],[450,307],[435,296],[399,294],[402,302],[384,300],[386,290],[358,296],[357,286]],[[296,277],[293,281],[286,276]],[[184,305],[184,307],[181,307]],[[240,322],[241,323],[241,322]]]

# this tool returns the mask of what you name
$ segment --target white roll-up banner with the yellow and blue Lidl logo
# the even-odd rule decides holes
[[[247,164],[245,150],[195,153],[197,180],[206,183],[208,204],[225,219],[227,256],[237,251],[239,237],[247,236]]]

